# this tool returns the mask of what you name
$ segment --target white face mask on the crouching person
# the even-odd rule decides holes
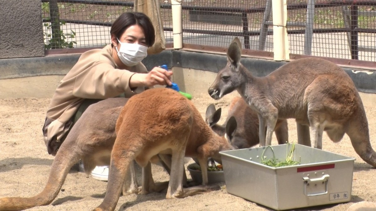
[[[124,65],[135,66],[147,56],[146,46],[135,43],[120,42],[119,39],[117,40],[121,44],[120,50],[118,50],[117,47],[115,48],[118,52],[119,59]]]

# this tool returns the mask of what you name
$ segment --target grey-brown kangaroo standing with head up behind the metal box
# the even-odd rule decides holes
[[[376,153],[356,87],[338,65],[309,57],[282,65],[265,77],[255,77],[241,63],[241,43],[235,38],[227,50],[227,65],[208,89],[219,99],[237,90],[258,113],[260,146],[270,145],[277,119],[294,118],[298,143],[322,148],[322,134],[339,142],[346,133],[356,153],[376,167]],[[267,132],[265,136],[265,125]]]

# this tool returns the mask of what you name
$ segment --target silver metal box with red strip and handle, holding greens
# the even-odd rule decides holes
[[[275,157],[285,161],[291,146],[272,146]],[[220,152],[227,193],[276,210],[350,201],[355,158],[295,144],[300,164],[270,167],[261,164],[265,148]]]

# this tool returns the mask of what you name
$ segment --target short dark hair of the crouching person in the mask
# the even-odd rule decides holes
[[[128,27],[133,25],[140,26],[145,34],[146,45],[152,46],[155,41],[155,32],[152,21],[141,12],[124,12],[112,23],[110,33],[117,38],[124,33]]]

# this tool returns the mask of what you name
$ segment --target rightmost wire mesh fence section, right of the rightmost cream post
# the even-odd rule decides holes
[[[376,1],[288,4],[290,53],[375,61]]]

